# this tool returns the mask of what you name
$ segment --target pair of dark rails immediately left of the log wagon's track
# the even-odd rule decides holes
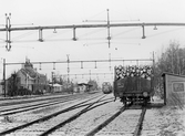
[[[12,127],[12,128],[10,128],[10,129],[3,130],[3,132],[0,133],[0,135],[12,134],[13,132],[14,132],[14,133],[13,133],[13,135],[14,135],[14,134],[17,134],[17,132],[20,132],[20,130],[22,130],[23,128],[28,128],[28,127],[30,127],[30,126],[32,126],[32,125],[34,125],[34,124],[42,124],[42,123],[45,123],[45,122],[48,122],[49,119],[52,119],[53,117],[56,117],[56,116],[59,116],[59,115],[61,115],[61,114],[63,114],[63,113],[82,108],[80,112],[75,113],[73,116],[69,117],[68,119],[63,121],[62,123],[58,124],[56,126],[53,126],[53,127],[51,127],[50,129],[47,129],[43,134],[41,134],[41,135],[48,135],[49,133],[53,132],[55,128],[59,128],[60,126],[65,125],[66,123],[72,122],[73,119],[78,118],[81,114],[83,114],[83,113],[85,113],[85,112],[88,112],[88,111],[91,111],[92,108],[95,108],[96,106],[100,106],[100,105],[103,105],[103,104],[106,104],[106,103],[113,101],[113,98],[112,98],[112,100],[107,98],[107,100],[106,100],[107,102],[106,102],[106,101],[105,101],[105,102],[104,102],[104,101],[101,101],[103,97],[105,97],[105,96],[102,96],[100,100],[97,100],[96,102],[93,102],[93,103],[92,103],[92,102],[90,103],[90,101],[92,101],[93,98],[89,98],[89,100],[86,100],[86,101],[83,101],[83,102],[81,102],[81,103],[78,103],[78,104],[75,104],[75,105],[73,105],[73,106],[70,106],[70,107],[68,107],[68,108],[64,108],[64,109],[59,111],[59,112],[56,112],[56,113],[53,113],[53,114],[51,114],[51,115],[48,115],[48,116],[41,117],[41,118],[39,118],[39,119],[32,121],[32,122],[30,122],[30,123],[25,123],[25,124],[23,124],[23,125],[20,125],[20,126]],[[89,103],[88,103],[88,102],[89,102]],[[101,102],[101,103],[97,104],[97,105],[94,105],[94,104],[97,103],[97,102]],[[86,103],[88,103],[88,104],[86,104]],[[94,105],[94,106],[93,106],[93,105]],[[85,106],[85,107],[84,107],[84,106]],[[18,135],[19,135],[19,134],[18,134]]]

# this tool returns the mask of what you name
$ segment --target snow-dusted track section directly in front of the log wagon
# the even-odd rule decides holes
[[[141,113],[135,112],[134,114],[131,114],[133,111],[141,111]],[[124,112],[125,113],[129,112],[130,114],[126,114],[124,116],[124,114],[125,114]],[[142,109],[138,109],[138,108],[137,109],[126,109],[126,107],[122,107],[114,115],[112,115],[111,117],[105,119],[103,123],[101,123],[100,125],[94,127],[89,133],[86,133],[85,136],[94,136],[94,135],[97,135],[97,136],[99,135],[140,136],[145,113],[146,113],[146,107],[142,107]],[[121,114],[123,114],[123,116]],[[131,117],[131,115],[132,116],[134,115],[134,116]],[[122,116],[122,117],[119,117],[119,116]],[[126,118],[129,118],[129,119],[126,121]],[[121,123],[117,122],[119,119],[121,121]],[[114,123],[111,124],[112,121],[114,121]],[[119,126],[117,124],[122,125],[123,127],[120,126],[122,128],[116,129],[114,126],[115,124],[116,124],[116,127]],[[126,127],[126,124],[130,126],[130,128]],[[134,127],[134,129],[133,129],[133,127]]]

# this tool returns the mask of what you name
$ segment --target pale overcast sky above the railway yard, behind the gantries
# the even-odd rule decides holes
[[[0,28],[4,28],[2,24],[6,24],[6,13],[11,13],[12,28],[70,25],[90,23],[84,20],[105,21],[106,9],[110,10],[111,23],[185,22],[184,0],[1,0]],[[66,61],[66,54],[70,54],[70,60],[109,59],[109,54],[112,59],[150,59],[152,52],[158,55],[165,50],[169,41],[176,40],[182,46],[185,45],[185,27],[157,27],[157,30],[147,27],[144,40],[141,39],[141,27],[111,28],[111,49],[107,46],[105,28],[78,29],[78,41],[72,41],[73,31],[70,29],[56,30],[56,33],[53,33],[53,30],[43,31],[45,42],[42,43],[38,42],[38,31],[12,32],[12,48],[7,52],[3,48],[6,32],[0,32],[0,57],[6,59],[7,62],[24,62],[25,56],[33,62]],[[112,72],[109,64],[97,64],[96,70],[93,69],[94,63],[84,64],[86,69],[83,70],[80,69],[81,64],[70,66],[72,74]],[[7,75],[20,67],[20,65],[7,66]],[[35,65],[35,67],[41,67],[42,71],[39,72],[47,73],[49,76],[52,71],[66,74],[66,64],[55,65],[55,70],[52,70],[53,64]],[[2,69],[0,72],[2,76]],[[104,75],[103,79],[106,77],[110,75]]]

